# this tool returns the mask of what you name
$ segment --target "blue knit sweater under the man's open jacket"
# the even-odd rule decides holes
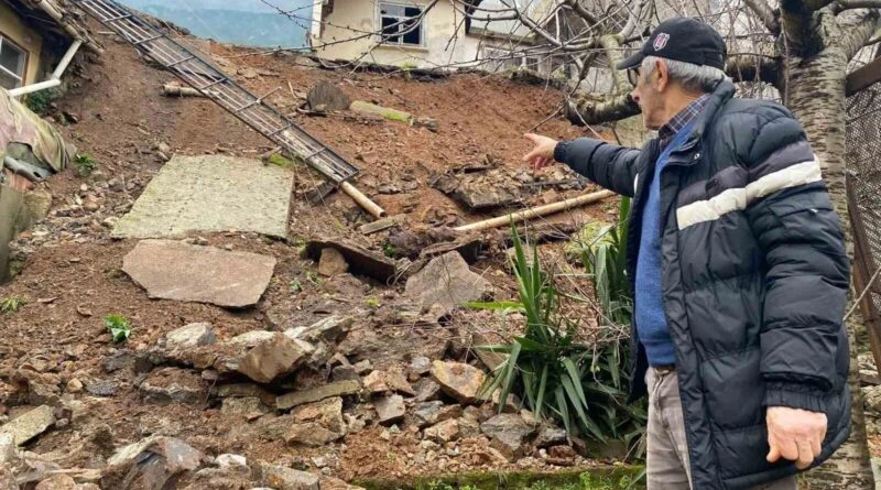
[[[676,363],[676,352],[670,338],[664,297],[661,286],[661,171],[670,154],[688,138],[693,122],[681,129],[664,148],[654,166],[654,175],[649,183],[649,196],[642,210],[642,235],[637,259],[635,318],[637,333],[645,347],[650,366]]]

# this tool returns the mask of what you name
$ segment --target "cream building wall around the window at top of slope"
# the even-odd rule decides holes
[[[400,4],[426,6],[428,0],[405,0]],[[335,0],[334,12],[324,19],[322,37],[313,44],[340,42],[327,47],[318,47],[318,56],[329,59],[361,59],[366,63],[385,65],[415,65],[418,68],[438,66],[467,66],[472,64],[480,40],[465,35],[461,15],[452,2],[437,2],[423,20],[425,46],[377,45],[374,35],[358,39],[367,32],[378,31],[379,1],[377,0]],[[348,29],[347,29],[348,28]],[[455,37],[452,42],[450,39]],[[367,54],[366,54],[367,53]]]

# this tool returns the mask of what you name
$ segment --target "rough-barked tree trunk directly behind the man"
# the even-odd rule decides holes
[[[846,50],[835,45],[825,47],[809,59],[790,57],[786,61],[785,102],[804,126],[814,153],[820,161],[829,197],[845,229],[847,252],[852,263],[853,241],[845,185],[844,88],[847,63]],[[850,438],[829,461],[805,476],[803,488],[806,489],[874,489],[858,378],[856,334],[864,328],[859,318],[858,315],[851,316],[847,325],[850,337],[848,383],[852,400]]]

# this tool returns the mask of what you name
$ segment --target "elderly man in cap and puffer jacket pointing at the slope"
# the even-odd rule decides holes
[[[556,160],[634,198],[631,398],[649,394],[650,490],[795,489],[849,433],[841,227],[802,127],[735,98],[725,57],[713,28],[673,19],[618,66],[657,130],[641,150],[526,134],[534,167]]]

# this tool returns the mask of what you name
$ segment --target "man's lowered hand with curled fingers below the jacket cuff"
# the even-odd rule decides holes
[[[826,437],[826,414],[788,406],[769,406],[765,414],[768,423],[768,462],[781,457],[795,461],[798,469],[805,469],[819,456],[823,438]]]

